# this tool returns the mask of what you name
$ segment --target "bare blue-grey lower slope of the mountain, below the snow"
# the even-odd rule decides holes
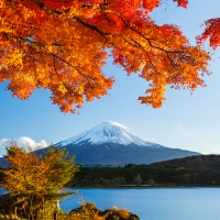
[[[136,145],[100,144],[81,145],[80,147],[66,146],[70,155],[76,155],[76,163],[103,164],[124,166],[125,164],[151,164],[173,158],[199,155],[197,152],[169,147],[140,147]]]

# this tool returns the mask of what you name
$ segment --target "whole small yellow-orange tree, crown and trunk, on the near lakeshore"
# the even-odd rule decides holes
[[[74,165],[75,156],[68,156],[65,148],[54,146],[38,155],[30,152],[30,146],[19,147],[15,143],[7,150],[9,169],[3,170],[1,187],[14,197],[12,206],[30,220],[43,219],[48,207],[54,212],[55,201],[69,195],[61,194],[59,190],[78,170],[78,166]]]

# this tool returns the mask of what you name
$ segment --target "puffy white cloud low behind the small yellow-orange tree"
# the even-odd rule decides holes
[[[47,143],[45,140],[40,141],[36,143],[34,140],[28,136],[20,136],[18,139],[1,139],[0,140],[0,157],[7,154],[6,147],[9,146],[12,142],[15,142],[19,146],[29,145],[31,148],[42,148],[46,147]]]

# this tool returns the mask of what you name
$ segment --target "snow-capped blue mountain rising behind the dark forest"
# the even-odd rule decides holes
[[[76,155],[76,163],[113,166],[151,164],[200,154],[144,141],[127,127],[112,121],[56,144],[56,147],[64,146],[70,155]]]

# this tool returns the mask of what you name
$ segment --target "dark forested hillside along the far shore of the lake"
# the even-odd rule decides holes
[[[220,155],[199,155],[150,165],[80,167],[69,186],[220,185]]]

